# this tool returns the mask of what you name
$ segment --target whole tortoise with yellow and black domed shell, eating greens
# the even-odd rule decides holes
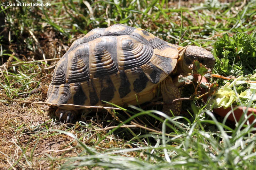
[[[163,41],[152,33],[122,24],[95,28],[72,43],[57,63],[47,92],[52,104],[107,106],[138,105],[152,100],[160,87],[163,112],[179,115],[180,91],[172,81],[175,75],[191,73],[198,60],[212,69],[211,52],[197,46],[181,47]],[[73,121],[77,106],[58,105],[55,115]]]

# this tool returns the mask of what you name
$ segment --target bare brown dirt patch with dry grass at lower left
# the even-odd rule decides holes
[[[3,99],[2,96],[1,99]],[[0,102],[0,106],[0,154],[2,155],[0,169],[8,169],[12,166],[26,168],[28,165],[32,169],[51,169],[50,165],[47,168],[49,163],[47,163],[46,154],[58,157],[58,155],[61,155],[61,151],[53,151],[67,148],[68,143],[73,139],[65,135],[46,137],[49,135],[47,135],[47,131],[38,133],[45,130],[45,126],[55,129],[60,128],[58,123],[49,122],[50,116],[47,113],[49,106],[24,105],[17,102]],[[32,150],[34,150],[33,157],[30,158]],[[29,157],[30,161],[26,162],[26,159],[24,159],[26,157]],[[36,159],[44,160],[33,161]],[[19,166],[16,164],[19,164]],[[51,165],[54,166],[54,163],[51,163]]]

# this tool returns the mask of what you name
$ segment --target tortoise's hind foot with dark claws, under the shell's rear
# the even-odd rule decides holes
[[[77,110],[65,110],[65,109],[58,108],[55,111],[55,115],[57,117],[59,117],[60,121],[64,120],[67,123],[74,122],[74,120],[76,119],[77,114],[78,114]]]

